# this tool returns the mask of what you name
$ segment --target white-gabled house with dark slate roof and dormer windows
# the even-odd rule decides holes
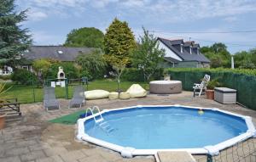
[[[166,50],[164,67],[208,68],[210,60],[200,52],[200,45],[183,39],[168,40],[158,37],[159,47]]]

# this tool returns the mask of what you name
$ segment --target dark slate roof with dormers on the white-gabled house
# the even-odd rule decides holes
[[[160,37],[158,37],[158,40],[164,43],[166,47],[171,49],[173,53],[176,53],[180,59],[183,59],[183,61],[197,61],[197,62],[203,62],[203,63],[210,63],[210,60],[207,59],[207,57],[205,57],[202,53],[190,54],[186,50],[183,50],[183,53],[181,53],[175,47],[172,46],[172,41],[165,38],[160,38]]]

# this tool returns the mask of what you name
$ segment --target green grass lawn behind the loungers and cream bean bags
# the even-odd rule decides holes
[[[143,88],[148,90],[148,84],[142,83],[142,82],[131,82],[131,81],[122,81],[121,89],[123,91],[126,91],[129,87],[131,87],[132,84],[135,84],[135,83],[140,84]],[[9,83],[9,86],[11,86],[12,88],[9,90],[9,92],[6,93],[7,97],[18,98],[20,103],[33,103],[34,101],[41,102],[43,100],[43,87],[11,85],[11,83]],[[84,88],[86,88],[85,85],[84,85]],[[111,81],[111,80],[90,81],[88,90],[94,90],[94,89],[103,89],[109,92],[113,92],[113,91],[116,91],[117,89],[117,82]],[[56,87],[55,94],[57,98],[65,98],[66,88]],[[73,95],[73,86],[69,86],[68,98],[72,98],[72,95]]]

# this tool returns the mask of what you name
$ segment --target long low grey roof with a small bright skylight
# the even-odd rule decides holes
[[[22,58],[74,61],[79,53],[91,53],[93,50],[95,50],[93,47],[31,46],[23,53]]]

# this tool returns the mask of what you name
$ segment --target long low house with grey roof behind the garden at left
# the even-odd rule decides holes
[[[21,54],[18,68],[33,71],[32,61],[37,59],[73,62],[79,53],[91,53],[93,50],[93,47],[31,46]],[[9,66],[4,66],[3,70],[0,70],[0,75],[10,75],[12,71]]]

